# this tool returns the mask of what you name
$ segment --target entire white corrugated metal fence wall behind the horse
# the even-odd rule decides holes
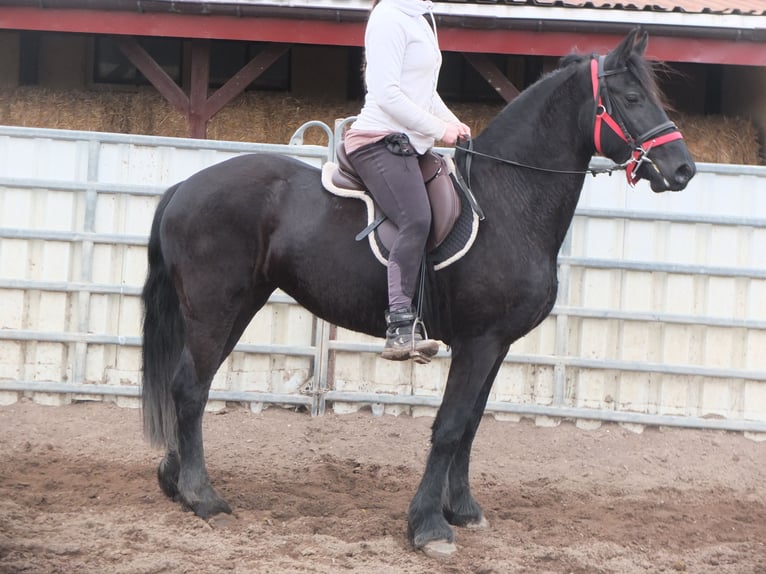
[[[321,164],[333,147],[0,128],[13,159],[0,168],[0,401],[33,390],[135,404],[159,194],[263,149]],[[556,308],[511,348],[490,411],[766,430],[766,169],[700,167],[678,194],[587,180]],[[213,403],[435,411],[446,351],[427,366],[391,363],[377,356],[380,339],[331,331],[276,295],[216,376]]]

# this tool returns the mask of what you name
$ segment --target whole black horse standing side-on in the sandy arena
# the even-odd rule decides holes
[[[426,553],[455,550],[450,525],[486,525],[468,483],[471,445],[511,343],[553,307],[557,254],[594,152],[655,192],[681,190],[695,173],[644,60],[646,43],[633,30],[607,56],[567,56],[472,150],[456,150],[487,218],[472,250],[431,271],[426,286],[425,324],[452,350],[408,513],[410,540]],[[231,512],[204,460],[211,380],[275,289],[331,323],[383,335],[385,268],[354,240],[365,224],[361,202],[329,194],[319,170],[281,155],[225,161],[162,197],[143,290],[144,426],[165,448],[162,490],[200,517]]]

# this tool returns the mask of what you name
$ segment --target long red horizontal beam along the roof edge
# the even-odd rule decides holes
[[[52,3],[46,3],[46,6],[48,4]],[[0,29],[7,30],[362,46],[364,26],[363,21],[0,6]],[[623,34],[606,32],[439,28],[442,50],[484,54],[560,57],[573,50],[605,53],[623,38]],[[766,66],[764,42],[735,39],[671,37],[653,33],[647,56],[667,62]]]

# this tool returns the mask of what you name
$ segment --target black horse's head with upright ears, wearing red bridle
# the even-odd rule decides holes
[[[596,104],[596,150],[626,165],[628,181],[649,181],[652,190],[680,191],[696,167],[681,133],[663,109],[650,65],[648,35],[632,30],[612,52],[591,60]]]

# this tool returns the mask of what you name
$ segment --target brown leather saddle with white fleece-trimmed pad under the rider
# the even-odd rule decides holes
[[[364,201],[367,227],[357,234],[356,240],[368,238],[375,257],[386,265],[388,253],[398,234],[397,227],[375,204],[348,160],[343,142],[336,152],[337,163],[328,162],[322,167],[322,184],[335,195]],[[456,170],[451,158],[430,150],[418,162],[431,204],[431,231],[426,242],[426,254],[434,269],[439,270],[468,252],[476,239],[479,216],[466,193],[461,193],[462,187],[456,186]]]

